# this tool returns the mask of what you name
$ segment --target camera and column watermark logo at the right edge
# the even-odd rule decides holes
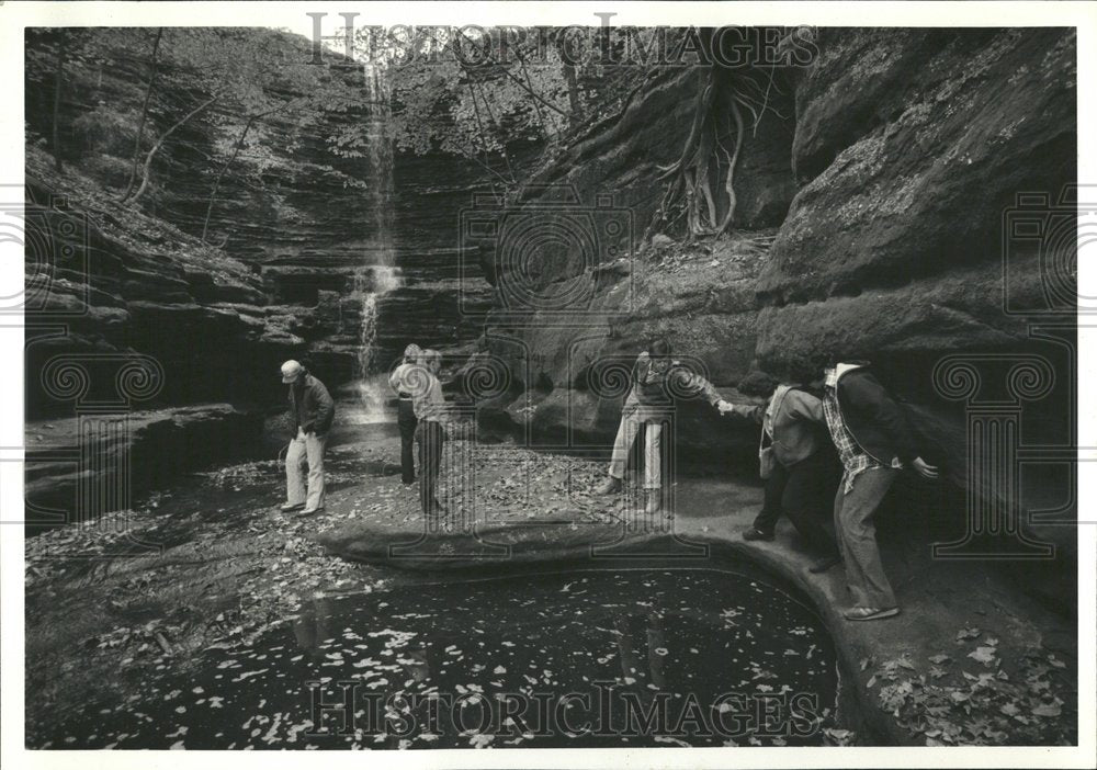
[[[1054,544],[1032,524],[1090,523],[1077,510],[1079,462],[1097,454],[1076,439],[1077,335],[1078,319],[1097,313],[1097,297],[1081,291],[1077,267],[1095,234],[1097,185],[1019,192],[1003,212],[1002,312],[1022,320],[1032,346],[1047,354],[954,353],[938,361],[937,394],[964,409],[966,520],[962,536],[935,544],[935,558],[1054,558]],[[1068,426],[1067,441],[1026,441],[1028,409],[1054,411]],[[1054,466],[1068,472],[1064,498],[1032,510],[1026,472]]]

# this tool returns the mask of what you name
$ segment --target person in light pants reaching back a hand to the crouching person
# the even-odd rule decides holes
[[[670,343],[665,339],[652,342],[647,350],[636,358],[632,367],[632,387],[621,409],[621,424],[613,441],[613,454],[606,480],[595,488],[596,495],[612,495],[621,491],[629,452],[636,440],[640,427],[644,426],[644,512],[657,513],[663,508],[663,422],[667,409],[672,406],[672,396],[701,396],[712,406],[723,399],[716,388],[699,374],[687,370],[670,353]]]

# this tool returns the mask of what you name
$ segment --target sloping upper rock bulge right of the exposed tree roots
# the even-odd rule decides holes
[[[758,284],[778,304],[960,265],[997,272],[1017,193],[1055,200],[1073,182],[1073,33],[842,31],[822,50],[798,89],[796,124],[798,162],[821,168]],[[850,87],[862,78],[868,89]],[[878,90],[892,95],[881,103]]]

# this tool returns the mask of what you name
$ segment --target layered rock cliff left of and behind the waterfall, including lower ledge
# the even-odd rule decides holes
[[[255,34],[268,35],[287,60],[308,58],[302,38]],[[63,170],[45,151],[54,70],[31,52],[26,71],[26,197],[34,212],[26,415],[54,427],[29,429],[38,435],[27,472],[37,509],[71,512],[78,479],[95,475],[80,466],[79,427],[57,428],[68,426],[59,418],[73,409],[140,410],[131,432],[101,446],[104,463],[132,458],[133,494],[169,469],[256,452],[260,414],[283,404],[282,361],[306,361],[332,390],[360,375],[364,301],[392,274],[398,285],[373,308],[373,367],[386,369],[410,341],[452,349],[479,336],[476,312],[487,309],[491,287],[475,261],[459,278],[456,251],[459,212],[479,180],[466,163],[398,156],[381,167],[340,157],[328,140],[361,114],[275,114],[252,135],[262,135],[257,156],[246,149],[220,178],[203,244],[217,159],[238,136],[241,105],[220,102],[174,132],[150,167],[148,194],[122,206],[112,199],[128,171],[144,66],[120,60],[66,70]],[[360,71],[335,75],[361,90]],[[146,136],[199,101],[161,78]],[[377,202],[389,184],[386,213]],[[140,399],[118,394],[117,370],[129,360],[151,362],[155,387]],[[103,488],[120,478],[114,471],[99,476]]]

